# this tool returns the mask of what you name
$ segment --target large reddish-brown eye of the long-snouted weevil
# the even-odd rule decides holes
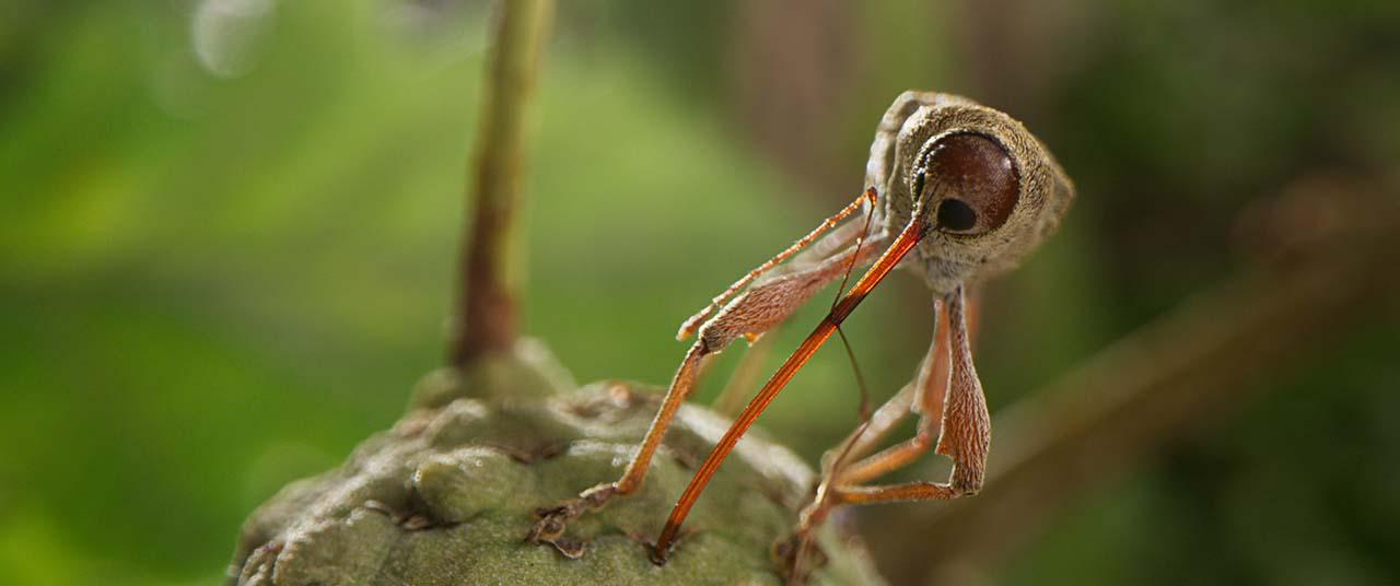
[[[1011,154],[981,134],[939,138],[924,159],[924,180],[937,228],[979,235],[1000,228],[1011,217],[1021,193],[1021,176]]]

